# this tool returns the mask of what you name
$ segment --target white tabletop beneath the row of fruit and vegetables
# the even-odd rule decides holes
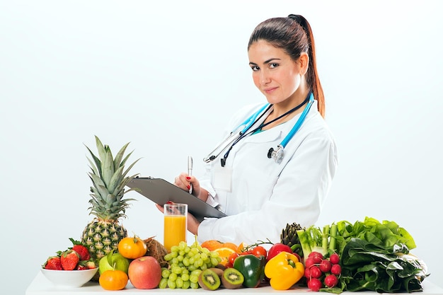
[[[214,291],[205,291],[204,289],[150,289],[150,290],[143,290],[143,289],[135,289],[130,282],[128,282],[127,287],[123,290],[117,291],[122,292],[125,294],[136,294],[140,292],[149,292],[149,293],[159,293],[164,295],[171,295],[171,294],[178,294],[178,293],[186,293],[186,292],[200,292],[200,294],[207,294],[210,293],[212,295],[219,295],[219,294],[234,294],[234,293],[241,293],[241,294],[268,294],[268,293],[282,293],[283,291],[277,291],[272,289],[272,287],[260,287],[260,288],[242,288],[242,289],[236,289],[236,290],[229,290],[229,289],[218,289],[217,293],[213,293]],[[290,289],[286,292],[296,292],[296,293],[307,293],[310,295],[313,294],[326,294],[324,292],[321,293],[313,293],[312,291],[309,291],[307,288],[297,288],[297,289]],[[347,292],[352,294],[352,292]],[[355,292],[356,293],[356,292]],[[26,289],[26,295],[43,295],[43,294],[60,294],[60,295],[76,295],[76,294],[82,294],[82,295],[109,295],[110,291],[105,291],[98,282],[88,282],[83,287],[80,288],[59,288],[54,287],[54,285],[46,279],[46,277],[42,274],[42,272],[38,272],[37,276],[35,276],[35,279],[31,284],[29,285],[28,289]],[[194,294],[194,293],[192,293]],[[372,295],[372,294],[378,294],[376,292],[364,292],[364,295]],[[398,294],[398,293],[396,293]],[[408,293],[406,293],[408,294]],[[423,282],[423,291],[420,292],[420,295],[427,295],[427,294],[435,294],[435,295],[443,295],[443,288],[438,287],[435,284],[432,284],[432,282],[427,281],[425,279],[425,282]],[[411,294],[409,294],[411,295]]]

